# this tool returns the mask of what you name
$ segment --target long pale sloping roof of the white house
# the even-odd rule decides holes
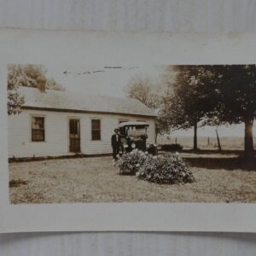
[[[18,90],[20,95],[25,97],[25,103],[22,108],[156,116],[142,102],[131,98],[96,96],[61,90],[45,90],[45,92],[41,92],[37,88],[24,86],[20,86]]]

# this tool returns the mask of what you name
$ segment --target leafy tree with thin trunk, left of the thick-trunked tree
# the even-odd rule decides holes
[[[214,120],[217,92],[214,90],[215,85],[210,82],[211,70],[206,66],[188,65],[167,67],[166,72],[176,73],[176,78],[171,81],[166,80],[168,90],[161,114],[165,116],[172,129],[194,127],[194,149],[198,149],[199,123],[206,125]]]

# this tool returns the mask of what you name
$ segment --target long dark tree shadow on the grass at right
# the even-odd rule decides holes
[[[189,166],[206,168],[206,169],[224,169],[228,171],[233,171],[241,169],[244,171],[256,171],[256,157],[254,158],[186,158],[185,160]]]

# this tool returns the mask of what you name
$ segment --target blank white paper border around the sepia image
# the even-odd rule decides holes
[[[72,55],[72,58],[71,58]],[[0,232],[256,230],[256,204],[79,203],[10,205],[8,63],[105,65],[253,64],[256,34],[168,34],[0,29]],[[88,62],[90,60],[90,62]],[[57,63],[57,62],[56,62]]]

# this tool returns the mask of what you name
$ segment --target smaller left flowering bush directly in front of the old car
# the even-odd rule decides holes
[[[147,153],[138,149],[133,149],[130,153],[123,154],[115,162],[115,165],[119,168],[119,173],[126,175],[135,175],[139,167],[143,165],[143,162],[148,158]]]

